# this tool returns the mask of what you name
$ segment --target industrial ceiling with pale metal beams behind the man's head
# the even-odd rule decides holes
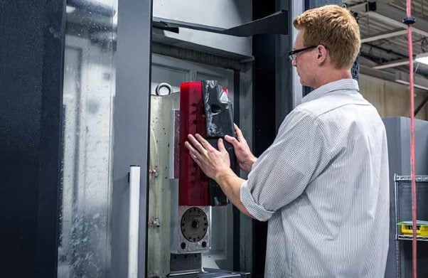
[[[343,1],[358,18],[360,73],[385,80],[408,80],[406,1]],[[412,0],[413,54],[428,53],[428,0]],[[428,91],[428,65],[414,63],[415,87]],[[403,82],[402,82],[403,83]],[[416,86],[417,85],[417,86]]]

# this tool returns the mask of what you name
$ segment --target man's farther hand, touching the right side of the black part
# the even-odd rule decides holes
[[[235,124],[235,134],[236,138],[229,135],[225,136],[225,140],[233,145],[235,148],[235,156],[237,163],[240,166],[240,169],[250,172],[252,164],[255,163],[257,157],[255,157],[250,151],[250,147],[247,144],[244,136],[242,135],[241,130]]]

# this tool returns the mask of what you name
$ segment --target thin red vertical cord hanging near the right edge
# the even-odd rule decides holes
[[[412,1],[407,0],[407,18],[412,16]],[[413,278],[417,278],[417,238],[416,238],[416,171],[414,168],[414,80],[413,80],[413,46],[412,26],[407,24],[407,45],[409,48],[409,73],[410,73],[410,174],[412,175],[412,270]]]

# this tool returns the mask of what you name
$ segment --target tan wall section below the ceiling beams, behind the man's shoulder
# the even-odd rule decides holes
[[[359,84],[361,94],[378,109],[381,117],[410,117],[408,86],[368,75],[360,75]],[[428,92],[414,90],[414,94],[414,108],[416,109]],[[428,104],[422,108],[416,118],[428,119]]]

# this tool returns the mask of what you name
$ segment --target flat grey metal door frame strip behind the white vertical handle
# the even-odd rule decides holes
[[[131,165],[141,166],[138,277],[145,277],[146,272],[151,9],[149,0],[119,0],[110,277],[127,277],[128,273],[128,173]]]

